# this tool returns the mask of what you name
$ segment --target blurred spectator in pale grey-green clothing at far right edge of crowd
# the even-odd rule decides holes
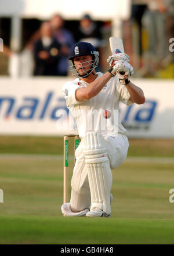
[[[169,55],[167,2],[168,0],[147,1],[148,9],[143,15],[143,27],[147,31],[147,49],[144,49],[143,68],[140,70],[143,77],[158,77],[158,70]]]

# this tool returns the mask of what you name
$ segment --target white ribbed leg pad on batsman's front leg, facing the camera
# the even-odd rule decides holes
[[[88,179],[91,194],[90,210],[97,208],[106,214],[111,213],[110,190],[112,173],[108,161],[103,136],[99,132],[88,132],[83,137],[84,157],[88,168]]]

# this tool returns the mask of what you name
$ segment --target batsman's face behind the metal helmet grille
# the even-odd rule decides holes
[[[80,75],[84,75],[91,68],[92,56],[84,55],[74,58],[74,65]]]

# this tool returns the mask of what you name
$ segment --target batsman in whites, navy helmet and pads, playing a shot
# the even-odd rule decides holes
[[[133,67],[125,53],[108,57],[110,67],[105,74],[96,73],[99,53],[88,42],[75,44],[69,60],[71,74],[77,78],[66,82],[62,91],[81,142],[75,150],[71,200],[61,206],[61,211],[67,217],[111,217],[111,170],[125,161],[129,147],[119,117],[119,102],[127,106],[143,104],[144,93],[129,80]],[[97,113],[95,118],[93,113]],[[103,120],[107,121],[105,129]]]

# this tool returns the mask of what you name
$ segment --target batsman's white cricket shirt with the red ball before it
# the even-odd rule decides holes
[[[99,78],[103,74],[97,72],[97,75],[97,78]],[[88,83],[76,78],[74,81],[66,82],[62,88],[67,108],[76,121],[79,136],[84,136],[85,132],[88,131],[100,132],[104,137],[117,134],[126,135],[126,129],[120,120],[119,102],[123,102],[127,106],[130,106],[133,102],[129,100],[130,94],[125,86],[121,85],[117,76],[115,76],[104,85],[102,91],[95,97],[78,102],[75,98],[75,91],[87,85]],[[106,110],[108,114],[111,114],[111,117],[108,115],[108,118],[106,118]]]

